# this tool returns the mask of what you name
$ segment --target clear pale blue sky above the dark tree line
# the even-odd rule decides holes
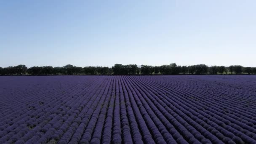
[[[0,0],[0,67],[256,67],[256,0]]]

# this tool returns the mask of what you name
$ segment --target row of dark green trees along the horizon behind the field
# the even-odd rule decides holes
[[[211,66],[197,64],[191,66],[178,66],[175,63],[162,66],[149,66],[136,64],[115,64],[113,67],[76,67],[67,64],[63,67],[30,67],[18,65],[15,67],[0,67],[0,75],[239,75],[256,74],[256,67],[243,67],[240,65]]]

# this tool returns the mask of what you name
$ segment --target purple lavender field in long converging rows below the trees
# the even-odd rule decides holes
[[[256,76],[2,76],[3,143],[256,144]]]

